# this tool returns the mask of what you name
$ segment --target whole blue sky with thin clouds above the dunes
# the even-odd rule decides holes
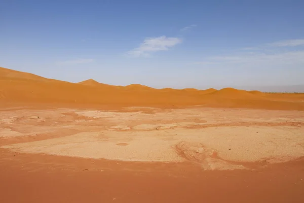
[[[0,66],[113,85],[304,84],[304,1],[14,1]]]

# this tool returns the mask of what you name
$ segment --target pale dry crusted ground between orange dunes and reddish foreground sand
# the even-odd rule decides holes
[[[0,146],[18,153],[252,170],[304,156],[304,114],[192,107],[2,109]]]

